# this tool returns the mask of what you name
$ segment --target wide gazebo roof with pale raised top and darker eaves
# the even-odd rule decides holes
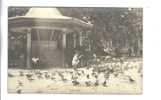
[[[24,16],[10,17],[10,29],[24,28],[62,28],[62,29],[90,29],[92,24],[73,17],[63,16],[57,8],[30,8]]]

